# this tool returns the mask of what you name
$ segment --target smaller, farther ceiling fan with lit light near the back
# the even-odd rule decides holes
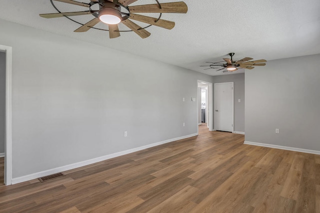
[[[266,60],[259,59],[259,60],[252,60],[251,57],[244,57],[240,60],[234,61],[232,60],[232,56],[234,55],[234,52],[230,52],[228,55],[230,55],[230,58],[222,58],[224,61],[219,62],[206,62],[211,63],[210,65],[200,65],[200,66],[209,66],[205,69],[217,69],[215,71],[223,70],[223,72],[228,71],[235,71],[239,68],[245,68],[245,69],[253,69],[254,66],[264,66]],[[251,60],[251,61],[250,61]]]

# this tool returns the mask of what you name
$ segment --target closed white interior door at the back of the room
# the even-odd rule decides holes
[[[233,132],[233,82],[214,83],[215,130]]]

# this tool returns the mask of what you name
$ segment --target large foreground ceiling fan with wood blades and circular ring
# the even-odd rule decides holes
[[[118,23],[123,23],[125,26],[131,30],[122,30],[122,31],[134,31],[141,38],[146,38],[150,35],[150,32],[145,30],[146,27],[151,25],[163,27],[166,29],[172,29],[174,27],[174,22],[169,20],[160,19],[162,13],[186,13],[187,5],[183,1],[179,2],[169,2],[169,3],[159,3],[158,0],[155,0],[154,4],[144,4],[144,5],[134,5],[129,6],[129,4],[137,0],[90,0],[89,3],[78,2],[74,0],[55,0],[61,1],[64,3],[74,4],[78,6],[87,7],[85,11],[77,12],[60,12],[52,0],[50,0],[53,7],[58,11],[58,13],[47,13],[39,14],[41,17],[45,18],[54,18],[54,17],[67,17],[68,19],[77,22],[68,16],[73,15],[93,15],[94,18],[87,23],[79,23],[82,26],[75,29],[75,32],[85,32],[90,28],[95,28],[98,22],[102,21],[108,25],[109,37],[115,38],[120,36],[121,30],[118,28]],[[159,13],[158,18],[144,16],[137,13]],[[149,24],[146,27],[140,27],[138,24],[134,23],[132,20],[141,21]],[[99,29],[99,28],[95,28]]]

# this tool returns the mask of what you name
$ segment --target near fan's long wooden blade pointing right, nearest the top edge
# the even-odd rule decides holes
[[[137,6],[129,6],[130,12],[170,12],[170,13],[186,13],[188,10],[187,5],[183,1],[160,3],[161,9],[157,3],[144,4]]]

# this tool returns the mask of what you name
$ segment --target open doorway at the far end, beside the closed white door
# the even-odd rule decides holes
[[[203,130],[212,131],[212,83],[197,80],[198,104],[197,104],[197,124]],[[205,126],[205,128],[204,128]]]

